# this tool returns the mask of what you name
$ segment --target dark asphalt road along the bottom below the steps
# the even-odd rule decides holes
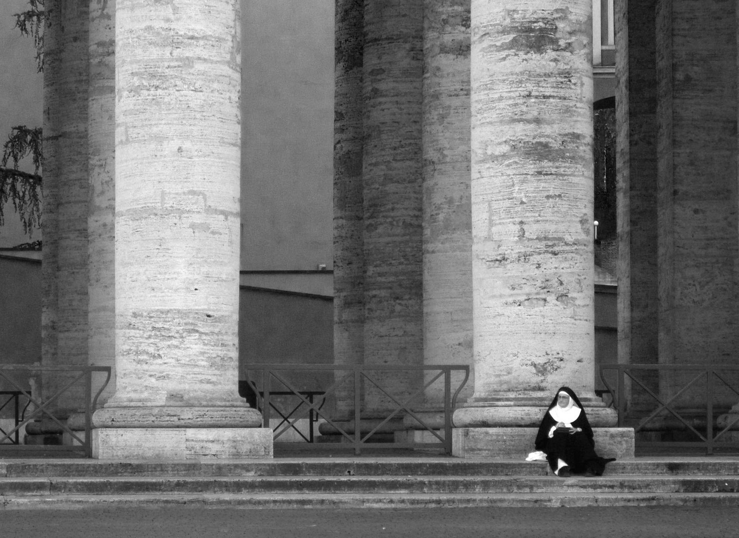
[[[739,508],[91,508],[0,511],[1,537],[739,537]]]

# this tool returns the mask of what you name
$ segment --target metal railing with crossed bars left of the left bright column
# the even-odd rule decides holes
[[[24,383],[13,379],[13,374],[19,372],[27,373],[58,373],[59,375],[67,375],[69,379],[64,379],[61,388],[52,393],[46,399],[41,396],[33,396],[30,390],[24,387]],[[95,396],[92,395],[92,374],[101,372],[106,374],[105,382]],[[6,382],[14,387],[13,393],[18,393],[16,398],[24,397],[28,403],[21,416],[16,415],[16,425],[8,432],[0,432],[0,454],[3,450],[12,448],[13,451],[38,451],[40,446],[26,446],[22,444],[7,443],[12,441],[15,436],[18,439],[18,432],[21,428],[30,422],[38,419],[50,420],[55,424],[57,430],[62,434],[67,433],[72,444],[67,445],[44,445],[44,451],[54,452],[83,452],[88,458],[92,456],[91,435],[92,430],[92,412],[98,404],[98,398],[110,381],[111,368],[109,366],[37,366],[37,365],[0,365],[0,382]],[[54,404],[61,401],[61,396],[72,392],[77,392],[78,384],[84,383],[84,401],[76,401],[75,408],[84,412],[84,438],[80,433],[82,430],[72,430],[67,424],[54,415]],[[74,388],[74,390],[72,390]]]

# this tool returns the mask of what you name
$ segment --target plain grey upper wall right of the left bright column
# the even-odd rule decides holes
[[[242,269],[333,265],[333,0],[242,0]]]

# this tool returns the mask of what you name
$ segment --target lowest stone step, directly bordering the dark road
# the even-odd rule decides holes
[[[738,506],[735,493],[365,493],[136,494],[0,497],[0,510],[193,506],[211,508],[446,508],[577,506]]]

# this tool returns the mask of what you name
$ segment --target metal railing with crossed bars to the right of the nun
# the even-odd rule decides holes
[[[606,372],[616,371],[616,387],[611,387],[608,383]],[[655,380],[645,380],[643,373],[651,370],[655,372],[657,376],[665,376],[672,373],[670,381],[675,384],[674,387],[670,387],[670,393],[663,395],[660,390],[653,390],[653,387],[649,385],[655,384]],[[642,373],[642,376],[638,376],[637,372]],[[600,376],[603,384],[607,388],[611,397],[613,398],[613,407],[619,413],[619,427],[624,427],[627,421],[627,401],[633,399],[635,396],[635,390],[641,389],[638,392],[638,396],[641,399],[640,409],[648,407],[644,405],[647,401],[650,404],[655,404],[655,409],[651,412],[642,410],[640,413],[642,416],[636,417],[637,424],[634,427],[634,432],[646,432],[647,425],[652,423],[653,426],[658,418],[664,418],[665,415],[671,415],[677,419],[678,424],[684,427],[684,431],[691,432],[697,441],[640,441],[636,439],[636,446],[638,447],[704,447],[707,454],[712,454],[715,448],[739,448],[739,441],[721,441],[721,436],[726,434],[732,427],[739,422],[739,415],[735,415],[735,418],[727,418],[726,426],[719,427],[716,424],[714,413],[715,413],[715,396],[719,387],[726,387],[730,393],[733,393],[737,397],[735,401],[739,401],[739,390],[732,386],[731,383],[726,381],[726,373],[733,372],[739,373],[739,365],[627,365],[627,364],[611,364],[600,366]],[[682,384],[676,383],[676,373],[683,373],[683,375],[690,375],[692,377]],[[627,387],[627,382],[630,387]],[[699,382],[704,382],[705,386],[700,387]],[[721,384],[718,384],[721,382]],[[657,384],[659,382],[657,381]],[[700,390],[703,388],[703,390]],[[691,391],[692,389],[692,391]],[[703,407],[705,410],[705,432],[699,432],[691,424],[691,421],[695,418],[695,414],[686,416],[686,407],[676,407],[675,403],[678,402],[681,396],[692,394],[703,394]],[[726,407],[724,404],[723,407]],[[728,413],[728,409],[720,410],[723,413]],[[648,414],[647,414],[648,413]],[[646,415],[646,416],[643,416]],[[729,415],[730,417],[731,415]],[[701,418],[702,420],[702,418]],[[654,428],[658,430],[657,428]],[[737,428],[739,430],[739,428]]]

